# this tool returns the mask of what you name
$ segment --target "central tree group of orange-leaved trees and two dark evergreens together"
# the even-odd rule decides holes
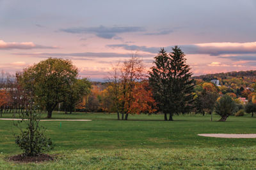
[[[195,83],[184,56],[177,46],[171,53],[161,49],[147,76],[138,57],[132,56],[121,66],[116,64],[102,94],[102,103],[108,102],[108,110],[115,111],[118,120],[127,120],[131,113],[163,112],[164,120],[188,113],[193,106]]]

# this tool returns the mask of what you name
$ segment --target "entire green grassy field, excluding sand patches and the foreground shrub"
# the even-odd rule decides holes
[[[10,114],[4,117],[12,117]],[[46,115],[43,115],[46,117]],[[256,139],[197,136],[200,133],[256,133],[256,118],[229,117],[210,122],[207,115],[180,115],[164,122],[163,115],[53,113],[53,118],[92,122],[42,122],[52,138],[52,162],[15,164],[6,161],[21,151],[14,143],[12,120],[0,120],[0,169],[253,169]],[[214,120],[219,117],[214,115]],[[61,126],[60,126],[61,123]]]

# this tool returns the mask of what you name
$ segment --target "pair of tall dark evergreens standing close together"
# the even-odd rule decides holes
[[[178,46],[172,48],[171,53],[166,53],[161,48],[154,57],[154,65],[149,72],[149,82],[153,89],[154,99],[158,103],[159,111],[164,113],[164,120],[170,114],[188,113],[193,102],[194,80],[186,64],[185,55]]]

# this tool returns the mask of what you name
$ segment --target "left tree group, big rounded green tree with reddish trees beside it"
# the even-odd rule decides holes
[[[90,88],[90,81],[78,78],[77,68],[70,60],[49,58],[16,73],[12,81],[4,81],[0,92],[5,96],[1,97],[4,101],[0,103],[1,113],[27,110],[31,97],[37,110],[47,111],[47,118],[52,117],[59,103],[71,113],[83,96],[90,93]]]

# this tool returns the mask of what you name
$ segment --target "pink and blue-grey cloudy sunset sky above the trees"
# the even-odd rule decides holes
[[[194,75],[256,69],[255,0],[0,0],[0,71],[72,60],[104,80],[138,55],[146,70],[160,48],[180,46]]]

